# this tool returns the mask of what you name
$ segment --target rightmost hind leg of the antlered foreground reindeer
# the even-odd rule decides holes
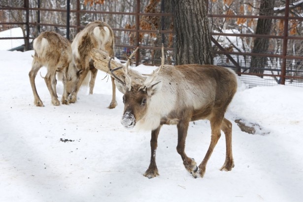
[[[220,170],[230,171],[235,167],[232,151],[232,123],[224,118],[222,121],[221,130],[224,132],[226,139],[226,157],[224,165],[220,168]]]

